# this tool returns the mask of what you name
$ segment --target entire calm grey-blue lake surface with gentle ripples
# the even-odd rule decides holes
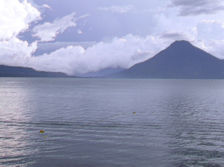
[[[0,78],[0,166],[222,167],[224,81]]]

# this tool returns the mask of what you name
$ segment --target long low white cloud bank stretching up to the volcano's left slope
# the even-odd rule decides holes
[[[105,68],[129,68],[154,56],[168,44],[168,41],[153,36],[127,35],[86,49],[82,46],[60,48],[50,54],[32,57],[29,62],[37,70],[78,75]]]

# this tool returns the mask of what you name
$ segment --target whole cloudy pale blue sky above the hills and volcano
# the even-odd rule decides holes
[[[223,0],[0,0],[0,64],[80,75],[176,40],[224,59]]]

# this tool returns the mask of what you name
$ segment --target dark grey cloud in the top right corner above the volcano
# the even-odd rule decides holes
[[[181,16],[214,14],[224,10],[223,0],[171,0],[170,6],[179,7]]]

